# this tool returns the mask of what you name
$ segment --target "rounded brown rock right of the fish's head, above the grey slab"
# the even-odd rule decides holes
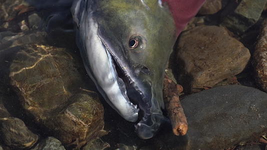
[[[240,73],[250,53],[241,42],[218,26],[197,26],[183,32],[177,44],[178,82],[185,92],[212,87]]]

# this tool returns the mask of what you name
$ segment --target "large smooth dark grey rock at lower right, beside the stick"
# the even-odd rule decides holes
[[[181,104],[191,149],[231,147],[267,129],[267,94],[252,87],[214,87],[186,96]]]

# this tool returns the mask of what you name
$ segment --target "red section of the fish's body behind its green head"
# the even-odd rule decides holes
[[[189,20],[196,15],[205,0],[162,0],[167,2],[175,21],[177,35],[187,25]]]

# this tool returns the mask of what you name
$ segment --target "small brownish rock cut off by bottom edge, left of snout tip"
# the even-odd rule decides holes
[[[82,150],[102,150],[110,147],[106,142],[103,142],[100,138],[93,139],[82,147]]]

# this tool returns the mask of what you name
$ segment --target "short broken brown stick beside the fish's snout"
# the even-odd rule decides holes
[[[172,131],[175,135],[185,135],[188,129],[187,120],[179,100],[182,86],[165,76],[163,98],[165,108],[171,121]]]

